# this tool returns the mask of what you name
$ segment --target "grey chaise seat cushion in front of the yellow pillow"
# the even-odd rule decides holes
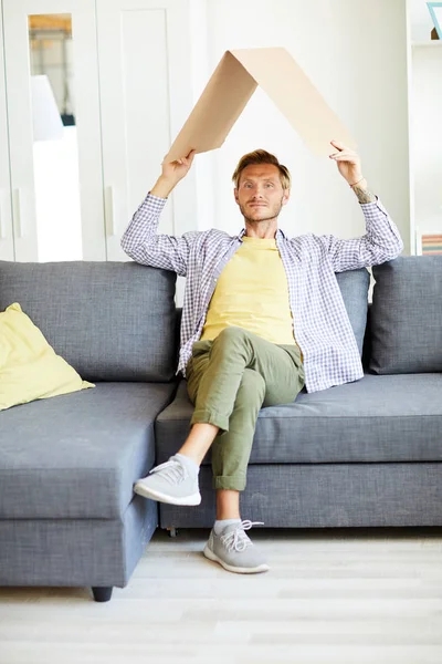
[[[1,413],[0,519],[122,518],[154,465],[154,421],[175,388],[97,383]]]

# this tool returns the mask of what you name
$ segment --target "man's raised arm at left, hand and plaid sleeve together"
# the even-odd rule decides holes
[[[187,157],[162,164],[161,175],[141,203],[122,237],[123,250],[135,261],[154,268],[172,270],[186,277],[189,249],[197,231],[176,238],[158,235],[158,221],[167,197],[176,185],[189,173],[194,151]]]

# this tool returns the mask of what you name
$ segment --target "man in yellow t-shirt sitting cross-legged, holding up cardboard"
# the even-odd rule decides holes
[[[240,517],[260,408],[292,403],[304,386],[315,392],[362,377],[335,272],[379,264],[403,248],[367,187],[358,155],[336,141],[332,145],[330,158],[361,206],[364,237],[287,238],[277,218],[290,198],[290,173],[259,149],[244,155],[233,174],[244,217],[239,236],[215,229],[181,238],[156,234],[167,197],[191,167],[190,152],[162,164],[122,239],[134,260],[187,277],[178,371],[194,405],[182,447],[139,479],[135,491],[162,502],[199,505],[199,467],[212,446],[217,521],[204,556],[232,572],[269,569],[245,532],[253,523]]]

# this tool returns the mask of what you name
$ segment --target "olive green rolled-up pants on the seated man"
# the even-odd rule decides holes
[[[304,387],[299,349],[225,328],[213,341],[193,344],[186,375],[191,425],[220,428],[212,444],[213,488],[242,491],[260,408],[291,403]]]

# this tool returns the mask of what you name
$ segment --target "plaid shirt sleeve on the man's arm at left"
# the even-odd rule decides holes
[[[158,235],[158,221],[166,201],[166,198],[151,194],[146,196],[122,237],[122,248],[136,262],[186,277],[191,241],[199,232],[186,232],[179,238]]]

